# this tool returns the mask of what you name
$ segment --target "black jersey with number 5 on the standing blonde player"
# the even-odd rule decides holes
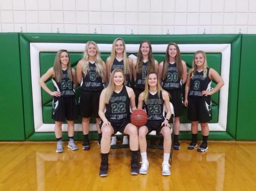
[[[82,74],[80,86],[82,91],[99,91],[104,89],[101,76],[97,76],[95,62],[89,62],[89,70],[87,71],[86,76],[84,73]]]

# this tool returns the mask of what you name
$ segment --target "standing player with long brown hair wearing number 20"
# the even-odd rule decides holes
[[[181,59],[180,49],[176,43],[171,42],[168,44],[165,60],[159,64],[158,76],[162,80],[162,88],[171,95],[170,101],[172,102],[175,116],[173,149],[179,150],[180,116],[184,112],[182,84],[187,80],[187,66]]]

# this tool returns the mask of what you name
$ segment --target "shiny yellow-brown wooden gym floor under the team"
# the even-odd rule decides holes
[[[0,190],[255,190],[256,142],[209,142],[205,153],[173,151],[170,176],[161,175],[163,150],[148,149],[147,175],[130,175],[129,149],[112,149],[108,176],[99,177],[100,150],[55,152],[55,142],[0,143]]]

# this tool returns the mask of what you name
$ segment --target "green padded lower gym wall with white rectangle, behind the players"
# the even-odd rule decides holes
[[[35,71],[31,70],[34,62],[31,60],[38,60],[40,75],[53,65],[55,57],[55,50],[49,49],[47,43],[55,43],[56,50],[63,49],[63,43],[67,46],[72,45],[75,47],[72,51],[68,49],[71,55],[71,63],[75,68],[78,60],[81,59],[83,54],[84,45],[88,40],[94,40],[97,44],[112,45],[113,40],[116,37],[122,37],[126,44],[139,44],[141,40],[148,39],[153,45],[168,44],[168,42],[177,42],[185,52],[182,52],[182,59],[187,63],[188,69],[191,66],[193,53],[188,47],[198,45],[202,49],[205,47],[208,50],[209,44],[212,46],[230,45],[230,68],[228,68],[229,76],[225,79],[229,81],[225,84],[227,94],[219,93],[213,95],[213,120],[212,124],[222,124],[223,119],[220,118],[219,112],[222,112],[220,100],[225,99],[228,96],[226,122],[224,123],[224,129],[218,130],[213,127],[209,139],[219,140],[256,140],[255,121],[252,119],[253,108],[251,105],[255,105],[255,90],[252,87],[253,81],[250,80],[250,76],[253,74],[253,58],[255,55],[255,45],[249,42],[256,40],[256,35],[241,35],[241,34],[229,34],[229,35],[105,35],[105,34],[42,34],[42,33],[0,33],[1,40],[1,56],[3,62],[0,74],[3,76],[3,89],[0,91],[1,98],[1,119],[2,125],[0,126],[0,140],[1,141],[53,141],[55,140],[52,126],[54,121],[51,120],[51,96],[46,92],[39,89],[40,104],[41,104],[41,118],[44,128],[40,130],[40,127],[35,122],[35,118],[38,114],[36,112],[35,95],[32,94],[32,87],[39,86],[38,79],[35,79]],[[68,44],[67,44],[68,43]],[[75,45],[73,45],[75,44]],[[77,44],[77,45],[76,45]],[[45,45],[46,47],[43,47]],[[59,46],[58,46],[59,45]],[[61,46],[62,45],[62,46]],[[205,46],[204,46],[205,45]],[[166,49],[166,46],[164,49]],[[34,58],[31,53],[32,48],[35,47],[37,57]],[[41,47],[41,48],[38,48]],[[43,48],[42,48],[43,47]],[[82,48],[81,48],[82,47]],[[42,49],[42,50],[40,50]],[[156,50],[157,48],[155,48]],[[137,49],[138,50],[138,49]],[[137,53],[137,50],[130,53]],[[157,49],[158,50],[158,49]],[[34,48],[33,51],[35,52]],[[32,51],[32,52],[33,52]],[[164,50],[165,51],[165,50]],[[223,63],[222,50],[212,51],[208,50],[207,58],[210,67],[215,68],[219,73],[222,70],[227,70],[226,67],[221,66]],[[153,48],[154,52],[154,48]],[[103,51],[102,59],[105,61],[109,52]],[[154,57],[160,63],[164,60],[164,53],[154,53]],[[241,62],[240,62],[241,57]],[[32,74],[32,75],[31,75]],[[251,74],[251,75],[250,75]],[[222,76],[223,77],[223,76]],[[36,81],[36,82],[35,82]],[[51,82],[48,82],[51,87]],[[214,83],[212,84],[214,86]],[[36,87],[38,88],[38,87]],[[34,88],[35,89],[35,88]],[[34,91],[35,92],[35,91]],[[37,92],[37,93],[38,93]],[[79,96],[79,88],[76,90],[77,97]],[[223,103],[223,102],[222,102]],[[223,104],[222,104],[223,105]],[[219,107],[220,106],[220,107]],[[249,115],[248,115],[249,113]],[[83,135],[80,131],[81,119],[76,121],[78,123],[75,132],[75,139],[80,140]],[[182,132],[180,133],[181,139],[190,139],[189,121],[187,120],[187,113],[181,118]],[[244,123],[246,121],[246,123]],[[91,123],[95,121],[92,120]],[[38,123],[39,124],[39,123]],[[40,126],[40,125],[39,125]],[[39,129],[39,130],[38,130]],[[47,130],[48,129],[48,130]],[[50,130],[49,130],[50,129]],[[65,128],[64,128],[65,130]],[[94,130],[94,128],[92,128]],[[64,133],[64,139],[67,139],[67,133]],[[97,138],[96,131],[90,131],[90,139]]]

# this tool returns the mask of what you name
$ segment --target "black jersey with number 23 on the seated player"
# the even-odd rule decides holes
[[[154,95],[149,92],[149,97],[144,102],[144,108],[146,109],[148,120],[163,120],[164,100],[162,92],[160,93],[160,98],[157,92]]]

